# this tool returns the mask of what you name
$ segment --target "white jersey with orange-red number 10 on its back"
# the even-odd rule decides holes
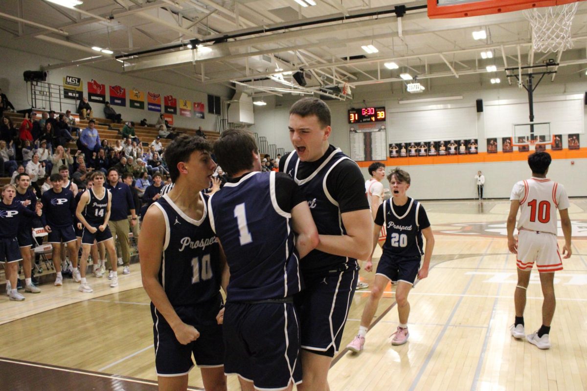
[[[518,230],[556,235],[556,209],[568,209],[565,188],[546,178],[530,178],[514,185],[510,200],[519,200]]]

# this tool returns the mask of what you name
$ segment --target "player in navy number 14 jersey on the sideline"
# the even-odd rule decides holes
[[[104,173],[96,171],[90,176],[93,186],[83,192],[76,208],[77,220],[82,223],[82,258],[80,259],[81,285],[79,291],[92,293],[93,290],[86,281],[87,258],[90,256],[92,245],[96,241],[98,244],[103,243],[108,251],[110,259],[116,256],[114,249],[114,240],[108,227],[110,218],[110,206],[112,205],[112,195],[104,188]],[[114,274],[110,280],[110,287],[118,286],[118,276]]]

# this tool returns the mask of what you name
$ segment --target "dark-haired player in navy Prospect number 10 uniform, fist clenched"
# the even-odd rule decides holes
[[[165,155],[175,186],[147,210],[139,237],[159,389],[187,389],[193,355],[204,388],[225,391],[222,327],[217,321],[225,260],[201,194],[210,186],[216,164],[210,145],[200,137],[175,138]]]

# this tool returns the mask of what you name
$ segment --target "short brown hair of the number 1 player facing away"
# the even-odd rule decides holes
[[[247,130],[227,129],[214,144],[217,162],[228,176],[252,168],[254,163],[251,152],[258,154],[259,150],[255,138]]]

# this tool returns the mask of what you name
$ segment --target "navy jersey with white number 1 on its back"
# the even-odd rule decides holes
[[[301,289],[291,213],[279,208],[275,172],[251,172],[210,197],[210,223],[230,267],[227,302],[284,298]]]

